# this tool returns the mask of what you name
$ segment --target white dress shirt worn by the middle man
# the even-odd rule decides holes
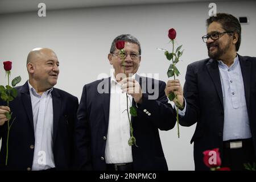
[[[133,78],[135,78],[135,74]],[[130,108],[133,98],[130,95],[128,96],[130,98],[128,99],[128,107]],[[110,81],[109,126],[105,148],[107,164],[133,162],[131,146],[128,144],[130,123],[126,111],[126,103],[126,93],[122,93],[122,85],[117,82],[113,73]]]

